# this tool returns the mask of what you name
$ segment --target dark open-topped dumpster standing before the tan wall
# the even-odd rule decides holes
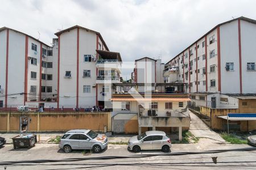
[[[35,146],[36,135],[34,134],[21,134],[16,137],[11,138],[13,139],[13,147],[33,147]]]

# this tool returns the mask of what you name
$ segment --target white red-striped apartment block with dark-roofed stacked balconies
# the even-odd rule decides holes
[[[120,54],[109,51],[99,32],[79,25],[55,35],[57,108],[112,108],[112,83],[121,78]]]

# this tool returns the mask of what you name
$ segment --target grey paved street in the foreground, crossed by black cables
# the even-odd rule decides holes
[[[217,163],[213,158],[217,157]],[[130,152],[125,145],[109,145],[100,154],[76,150],[65,154],[55,144],[32,148],[0,148],[1,169],[256,169],[256,147],[200,139],[194,144],[174,144],[171,152]]]

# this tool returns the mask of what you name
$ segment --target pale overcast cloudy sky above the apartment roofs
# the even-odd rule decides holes
[[[0,0],[0,27],[51,44],[60,29],[81,25],[98,31],[123,61],[142,57],[166,63],[218,23],[256,19],[256,1],[223,0]]]

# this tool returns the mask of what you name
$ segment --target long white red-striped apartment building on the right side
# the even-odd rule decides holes
[[[168,82],[187,83],[192,104],[237,108],[226,94],[256,93],[256,20],[245,17],[218,24],[166,63]],[[170,71],[171,69],[176,71]]]

